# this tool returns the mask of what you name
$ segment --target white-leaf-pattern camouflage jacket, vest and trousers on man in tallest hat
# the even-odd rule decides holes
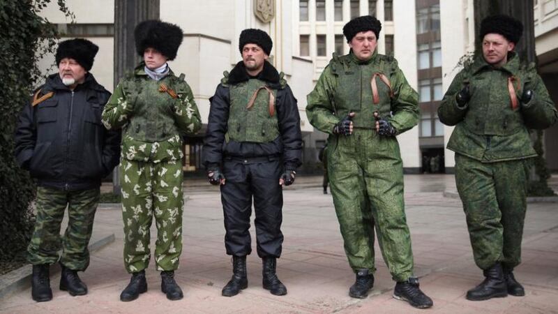
[[[165,88],[166,87],[166,88]],[[140,63],[119,82],[105,106],[103,124],[123,128],[121,181],[124,264],[129,273],[149,265],[149,227],[155,216],[155,262],[178,268],[182,250],[182,137],[201,119],[190,87],[170,71],[156,81]]]

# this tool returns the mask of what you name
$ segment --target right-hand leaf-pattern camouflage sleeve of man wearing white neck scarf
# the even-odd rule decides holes
[[[179,101],[174,107],[174,121],[181,132],[193,135],[202,128],[202,118],[197,110],[194,94],[190,86],[186,84],[185,91],[179,93]]]

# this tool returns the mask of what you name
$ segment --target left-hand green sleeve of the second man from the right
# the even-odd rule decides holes
[[[333,133],[333,126],[340,121],[340,118],[333,114],[335,107],[333,100],[330,98],[331,95],[335,94],[336,87],[335,75],[331,72],[331,68],[326,66],[316,87],[306,96],[308,103],[306,105],[306,116],[308,116],[310,124],[329,134]]]

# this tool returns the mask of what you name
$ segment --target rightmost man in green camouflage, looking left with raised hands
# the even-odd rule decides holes
[[[453,79],[438,117],[455,126],[455,182],[467,217],[476,265],[485,280],[467,299],[525,295],[513,268],[521,262],[531,158],[528,128],[555,124],[558,113],[534,64],[513,50],[523,25],[506,15],[481,22],[482,54]]]

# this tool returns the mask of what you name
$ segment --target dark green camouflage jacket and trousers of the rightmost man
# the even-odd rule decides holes
[[[518,103],[511,107],[508,77]],[[458,107],[455,96],[469,84],[471,98]],[[525,89],[534,91],[521,103]],[[442,123],[455,126],[448,149],[455,151],[455,181],[467,216],[475,262],[488,269],[521,262],[527,209],[529,158],[536,156],[527,128],[548,128],[557,110],[533,65],[522,67],[514,52],[502,68],[477,57],[453,80],[438,108]]]

